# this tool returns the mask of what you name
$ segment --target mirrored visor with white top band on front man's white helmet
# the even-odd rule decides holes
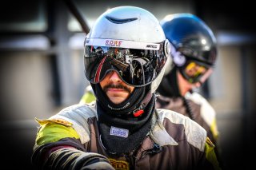
[[[166,59],[163,43],[98,38],[85,41],[85,73],[87,80],[93,84],[102,81],[107,73],[114,70],[128,85],[148,85],[158,77]]]

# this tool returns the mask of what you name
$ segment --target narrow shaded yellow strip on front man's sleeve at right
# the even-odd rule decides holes
[[[214,152],[214,144],[210,141],[208,137],[206,139],[205,152],[206,160],[209,160],[210,163],[214,165],[214,169],[221,169],[219,168],[218,160]]]

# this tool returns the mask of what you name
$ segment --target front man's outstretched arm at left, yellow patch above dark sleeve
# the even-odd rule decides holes
[[[39,128],[32,164],[40,169],[114,169],[105,156],[86,152],[74,128],[52,122]]]

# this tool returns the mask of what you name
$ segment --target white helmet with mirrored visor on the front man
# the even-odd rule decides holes
[[[118,6],[103,13],[84,43],[86,78],[96,84],[111,70],[128,85],[158,88],[165,71],[170,43],[149,11]]]

